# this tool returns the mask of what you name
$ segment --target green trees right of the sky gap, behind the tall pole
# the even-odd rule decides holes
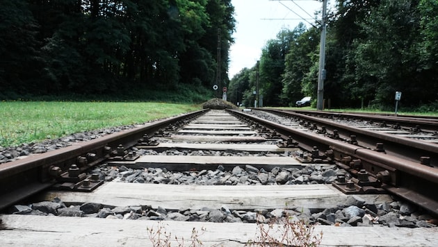
[[[394,108],[400,91],[401,105],[438,110],[437,0],[337,0],[327,23],[326,107]],[[316,100],[320,26],[300,24],[267,42],[259,64],[263,105]],[[232,78],[229,99],[254,105],[256,88],[254,65]]]

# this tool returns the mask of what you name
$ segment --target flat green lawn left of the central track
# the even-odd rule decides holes
[[[144,123],[199,105],[133,102],[0,102],[0,146],[40,142],[99,128]]]

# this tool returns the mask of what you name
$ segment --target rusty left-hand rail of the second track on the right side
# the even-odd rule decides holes
[[[317,123],[320,127],[325,126],[327,130],[337,130],[339,135],[345,136],[347,139],[350,135],[355,135],[360,146],[369,148],[377,146],[378,143],[384,144],[384,151],[391,155],[400,155],[405,159],[413,162],[421,162],[421,157],[429,157],[430,165],[438,167],[438,145],[428,142],[421,142],[416,139],[410,139],[407,137],[399,137],[397,135],[391,135],[387,133],[379,133],[363,128],[356,128],[347,126],[341,123],[334,123],[333,121],[327,121],[318,117],[311,117],[305,114],[263,109],[267,112],[273,112],[275,114],[283,114],[287,117],[298,117],[300,119],[306,119],[313,123]],[[438,128],[438,127],[437,127]]]

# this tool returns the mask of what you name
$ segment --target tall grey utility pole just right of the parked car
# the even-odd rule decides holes
[[[327,0],[323,0],[323,18],[321,19],[321,42],[319,44],[319,69],[318,69],[318,97],[316,110],[324,108],[324,80],[325,80],[325,32],[327,22]]]

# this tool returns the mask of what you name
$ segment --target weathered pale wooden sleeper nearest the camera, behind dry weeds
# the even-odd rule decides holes
[[[147,229],[161,228],[170,235],[171,246],[190,246],[192,230],[203,246],[244,246],[256,239],[257,225],[181,221],[133,221],[59,216],[2,215],[0,246],[154,246]],[[202,230],[204,229],[204,230]],[[277,228],[275,228],[277,229]],[[340,228],[316,225],[323,232],[320,246],[437,246],[438,228]],[[273,236],[281,231],[273,233]],[[161,235],[161,239],[166,239]],[[179,244],[175,240],[179,239]],[[152,239],[159,240],[158,237]]]

